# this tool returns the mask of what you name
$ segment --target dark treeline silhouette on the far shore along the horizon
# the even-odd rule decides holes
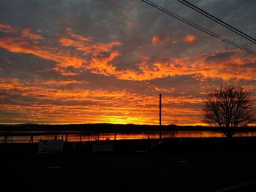
[[[238,131],[256,131],[255,127],[237,128]],[[220,131],[210,126],[177,125],[135,125],[135,124],[0,124],[0,131],[89,131],[89,132],[125,132],[125,131]]]

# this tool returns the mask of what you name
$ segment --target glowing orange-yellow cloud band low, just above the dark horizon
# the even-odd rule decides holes
[[[15,102],[1,104],[1,109],[5,112],[20,113],[15,118],[12,117],[15,123],[24,121],[34,123],[158,123],[158,96],[143,96],[125,90],[59,88],[59,85],[69,83],[77,82],[72,80],[20,82],[15,79],[0,79],[1,91],[9,93],[9,96],[15,96]],[[23,98],[28,99],[23,100]],[[184,107],[183,105],[187,102],[199,104],[201,100],[186,96],[163,96],[162,123],[170,123],[172,117],[175,116],[180,117],[179,123],[197,122],[200,112],[193,107]],[[171,106],[171,110],[167,106]],[[184,114],[192,115],[192,118],[187,120]],[[0,118],[3,119],[1,115]]]

